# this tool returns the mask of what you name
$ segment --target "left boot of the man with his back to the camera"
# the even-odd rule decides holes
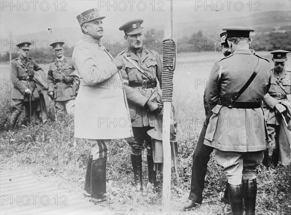
[[[242,215],[242,185],[228,183],[228,199],[233,215]]]

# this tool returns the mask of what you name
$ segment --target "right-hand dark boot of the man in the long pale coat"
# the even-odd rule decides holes
[[[95,202],[106,200],[106,161],[107,158],[98,158],[92,162],[91,199]]]

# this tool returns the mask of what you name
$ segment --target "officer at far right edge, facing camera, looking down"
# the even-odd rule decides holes
[[[265,112],[265,119],[267,121],[267,129],[269,140],[273,139],[275,135],[275,149],[272,153],[272,163],[274,166],[279,161],[279,132],[281,113],[286,111],[286,107],[282,104],[282,101],[288,100],[288,95],[291,94],[291,71],[285,69],[285,62],[287,61],[287,53],[285,50],[272,51],[272,61],[274,62],[274,68],[271,75],[271,86],[264,98],[263,109]],[[289,98],[290,102],[290,98]],[[283,122],[282,122],[283,123]],[[268,165],[269,150],[265,150],[264,164]]]

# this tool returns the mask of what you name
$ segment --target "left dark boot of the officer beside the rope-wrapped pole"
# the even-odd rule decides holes
[[[142,155],[130,154],[136,191],[143,191]]]

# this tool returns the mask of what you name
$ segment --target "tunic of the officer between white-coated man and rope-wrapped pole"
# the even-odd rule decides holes
[[[146,75],[137,69],[129,60],[129,57],[137,66],[139,66]],[[129,113],[132,121],[132,127],[154,126],[155,116],[149,113],[144,105],[146,101],[161,87],[162,79],[162,59],[155,50],[143,48],[141,52],[134,53],[132,50],[125,50],[118,54],[123,67],[120,70],[125,85],[125,92],[129,103]],[[157,87],[130,87],[130,82],[141,82],[156,80]]]

